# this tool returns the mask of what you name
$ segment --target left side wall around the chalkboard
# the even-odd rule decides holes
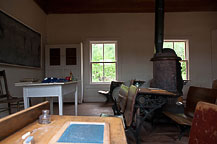
[[[15,87],[14,82],[23,78],[39,78],[44,75],[44,45],[46,43],[47,15],[33,0],[1,0],[0,9],[16,20],[41,33],[42,36],[42,68],[30,69],[0,65],[0,70],[6,70],[9,91],[14,96],[22,96],[22,88]]]

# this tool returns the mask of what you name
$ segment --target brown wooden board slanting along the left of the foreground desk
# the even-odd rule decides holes
[[[49,109],[48,101],[0,119],[0,140],[34,122],[42,114],[42,110],[44,109]]]

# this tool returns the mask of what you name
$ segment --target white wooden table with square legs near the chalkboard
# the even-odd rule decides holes
[[[30,97],[58,97],[59,115],[63,115],[63,95],[75,92],[75,115],[78,114],[78,86],[77,81],[58,83],[15,83],[15,86],[23,87],[24,108],[29,107]],[[51,99],[51,114],[53,113],[53,100]]]

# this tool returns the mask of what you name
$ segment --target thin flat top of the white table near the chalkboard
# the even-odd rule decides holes
[[[55,83],[40,83],[40,82],[18,82],[15,83],[15,86],[49,86],[49,85],[66,85],[77,83],[78,81],[69,81],[69,82],[55,82]]]

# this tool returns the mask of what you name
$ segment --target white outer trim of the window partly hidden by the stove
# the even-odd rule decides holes
[[[184,41],[185,42],[185,60],[181,60],[181,61],[186,61],[187,64],[187,79],[186,80],[190,80],[190,73],[189,73],[189,40],[188,39],[164,39],[165,42],[167,41],[172,41],[172,42],[181,42]]]

